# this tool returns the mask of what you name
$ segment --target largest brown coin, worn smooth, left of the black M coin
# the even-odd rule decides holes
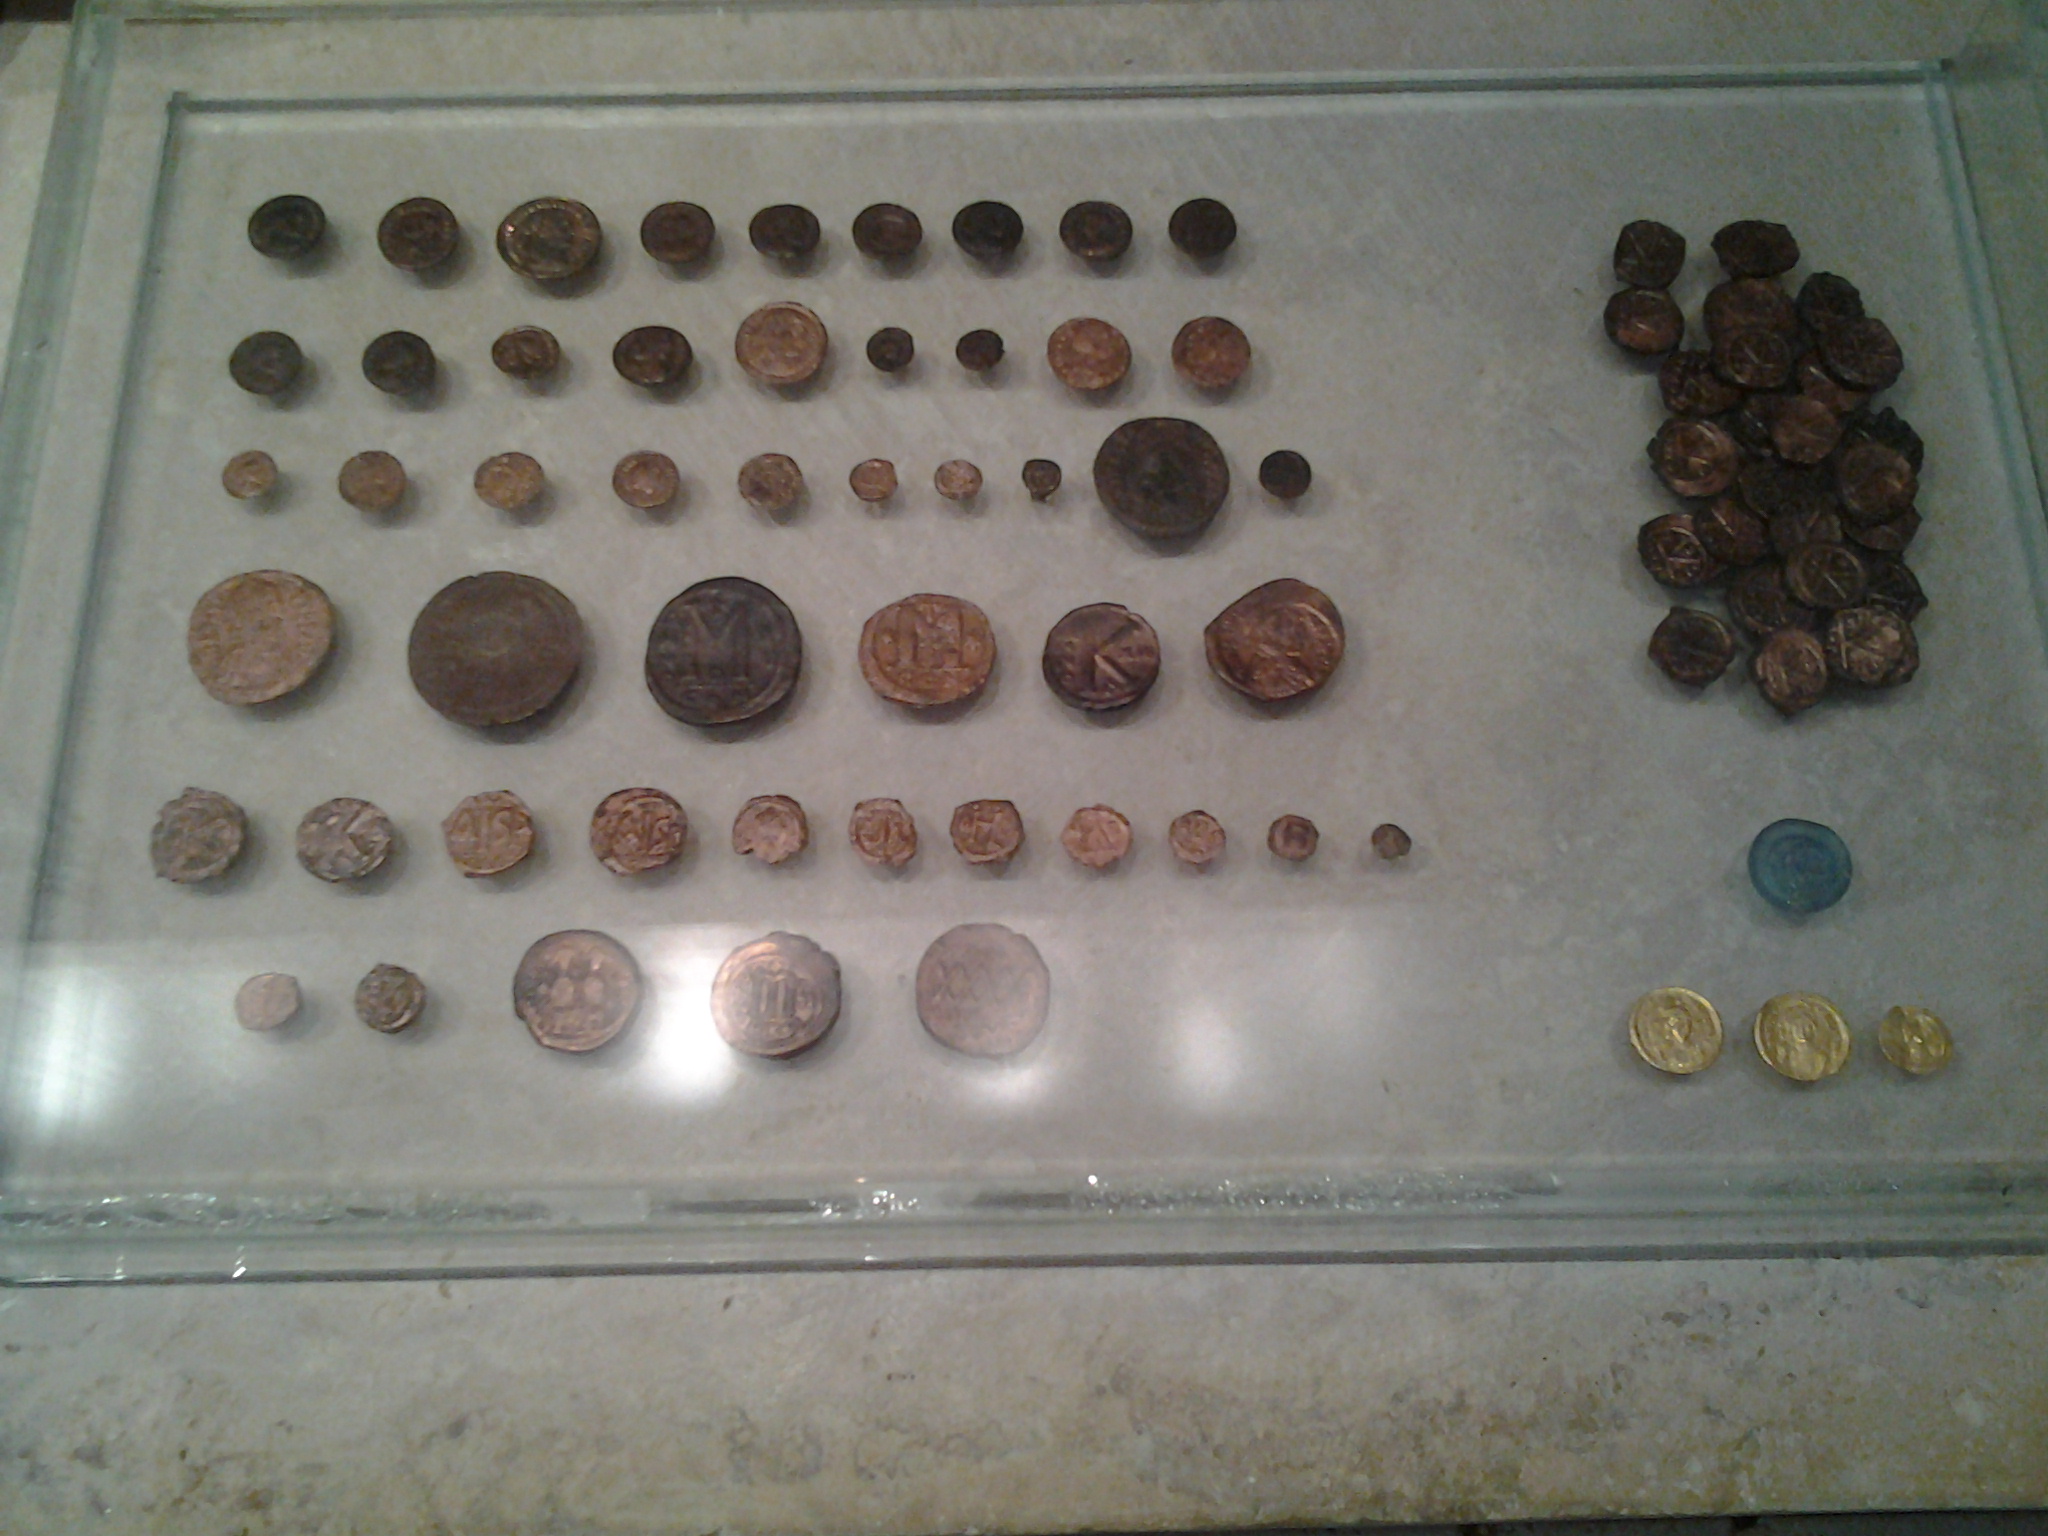
[[[412,686],[457,725],[510,725],[553,705],[584,659],[575,604],[537,575],[483,571],[412,623]]]

